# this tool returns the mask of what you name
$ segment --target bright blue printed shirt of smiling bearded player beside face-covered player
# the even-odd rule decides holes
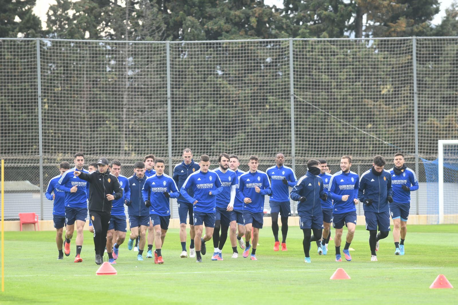
[[[360,178],[352,171],[343,173],[338,171],[333,174],[329,182],[327,196],[331,196],[334,201],[333,213],[343,214],[356,211],[354,199],[358,198]],[[347,201],[342,201],[342,196],[349,195]]]

